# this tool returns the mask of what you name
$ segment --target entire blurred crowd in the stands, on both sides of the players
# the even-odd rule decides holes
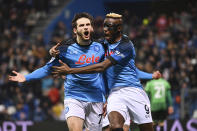
[[[56,2],[0,0],[0,120],[64,119],[63,80],[50,76],[23,84],[8,81],[12,70],[28,74],[50,59],[50,46],[44,44],[42,34],[37,35],[35,43],[29,36]],[[129,10],[123,13],[124,33],[136,48],[136,66],[147,72],[160,70],[171,84],[175,109],[172,119],[180,118],[181,89],[197,88],[197,5],[186,7],[184,11],[152,13],[145,18]],[[102,17],[95,18],[95,38],[102,36],[102,22]],[[68,34],[65,24],[59,22],[52,40],[65,40]],[[191,103],[189,118],[197,110],[195,95]]]

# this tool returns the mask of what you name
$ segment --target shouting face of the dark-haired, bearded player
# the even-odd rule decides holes
[[[89,41],[93,32],[93,27],[88,18],[80,18],[76,21],[77,25],[74,28],[74,33],[82,41]]]

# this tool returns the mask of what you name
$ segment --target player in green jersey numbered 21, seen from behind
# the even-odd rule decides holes
[[[154,127],[156,128],[159,125],[161,131],[163,131],[164,120],[168,114],[172,114],[174,111],[170,89],[170,84],[163,78],[151,80],[147,82],[145,87],[145,91],[150,98],[152,117],[155,122]]]

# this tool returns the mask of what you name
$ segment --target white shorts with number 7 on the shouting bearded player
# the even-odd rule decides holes
[[[102,102],[85,102],[76,99],[65,99],[65,118],[76,116],[84,120],[89,131],[102,131]]]

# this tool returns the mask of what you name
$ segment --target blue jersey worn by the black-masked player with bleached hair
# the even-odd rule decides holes
[[[104,42],[108,46],[108,59],[113,66],[106,70],[108,88],[135,87],[142,88],[135,66],[135,49],[126,36],[114,44]]]

